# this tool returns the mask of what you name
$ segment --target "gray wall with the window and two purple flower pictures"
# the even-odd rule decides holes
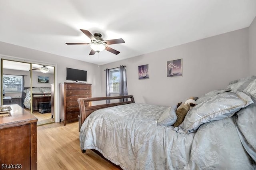
[[[167,78],[166,61],[179,58],[183,77]],[[138,80],[138,66],[145,64],[149,64],[150,78]],[[119,65],[127,66],[128,94],[134,95],[136,103],[174,105],[225,88],[229,81],[249,74],[248,28],[102,65],[102,96],[106,91],[104,69]]]

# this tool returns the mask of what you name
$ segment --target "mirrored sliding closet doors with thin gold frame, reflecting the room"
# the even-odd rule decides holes
[[[20,105],[38,125],[54,122],[54,67],[2,59],[2,91],[2,105]]]

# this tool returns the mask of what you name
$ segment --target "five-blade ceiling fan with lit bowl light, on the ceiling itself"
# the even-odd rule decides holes
[[[99,53],[100,51],[103,51],[106,49],[107,51],[114,53],[118,55],[120,52],[116,51],[113,48],[108,47],[107,45],[110,44],[116,44],[116,43],[125,43],[122,38],[114,39],[114,40],[103,40],[101,37],[102,35],[100,33],[91,34],[88,30],[82,30],[80,29],[86,36],[88,36],[91,39],[91,43],[66,43],[68,45],[77,45],[77,44],[88,44],[92,48],[89,55],[94,55],[96,52]]]

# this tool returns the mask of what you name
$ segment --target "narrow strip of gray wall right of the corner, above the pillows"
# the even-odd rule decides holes
[[[256,17],[249,27],[250,75],[256,75]]]

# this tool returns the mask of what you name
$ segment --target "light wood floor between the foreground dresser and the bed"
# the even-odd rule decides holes
[[[38,170],[120,170],[91,150],[80,149],[78,122],[37,127]]]

